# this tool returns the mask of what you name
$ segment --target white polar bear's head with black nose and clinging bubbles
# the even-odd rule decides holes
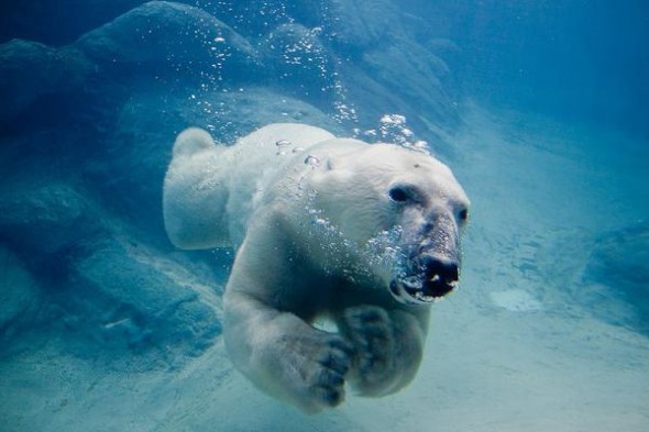
[[[346,246],[336,253],[381,279],[399,302],[429,303],[450,292],[470,202],[449,167],[397,145],[337,141],[349,151],[327,157],[309,179],[311,213]]]

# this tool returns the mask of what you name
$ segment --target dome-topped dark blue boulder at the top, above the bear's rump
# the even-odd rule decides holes
[[[116,71],[154,78],[165,71],[242,78],[262,70],[250,43],[209,13],[182,3],[151,1],[81,36],[75,44]]]

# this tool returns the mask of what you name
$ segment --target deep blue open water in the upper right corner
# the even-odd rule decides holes
[[[463,48],[468,91],[499,106],[647,137],[649,14],[641,1],[430,2]],[[449,19],[450,18],[450,19]]]

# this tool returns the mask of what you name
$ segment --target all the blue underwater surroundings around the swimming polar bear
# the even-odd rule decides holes
[[[0,4],[0,431],[646,431],[649,5]],[[472,201],[398,394],[307,417],[230,363],[235,252],[179,251],[175,136],[425,145]]]

